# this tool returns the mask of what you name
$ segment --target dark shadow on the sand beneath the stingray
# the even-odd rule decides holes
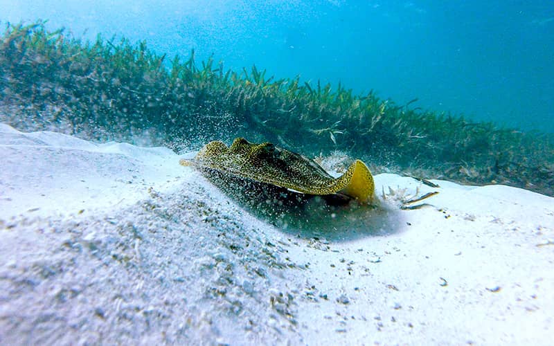
[[[301,194],[215,170],[204,170],[204,176],[242,208],[295,237],[343,242],[397,233],[406,226],[400,210],[390,206],[361,206],[340,194]]]

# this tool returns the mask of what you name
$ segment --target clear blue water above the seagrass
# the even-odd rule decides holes
[[[0,0],[0,21],[145,39],[168,56],[339,81],[402,104],[554,132],[554,1]],[[415,107],[414,106],[414,107]]]

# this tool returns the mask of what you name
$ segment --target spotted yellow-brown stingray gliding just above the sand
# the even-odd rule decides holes
[[[307,195],[340,194],[362,204],[375,201],[375,183],[368,167],[356,160],[348,170],[334,178],[310,158],[271,143],[249,143],[236,138],[231,147],[220,140],[208,143],[192,160],[181,165],[200,170],[215,170],[223,176],[266,183]]]

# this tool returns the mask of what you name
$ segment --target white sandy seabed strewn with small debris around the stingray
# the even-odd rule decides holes
[[[554,199],[541,194],[379,174],[397,194],[379,210],[294,230],[169,149],[1,125],[0,159],[1,345],[553,340]],[[416,188],[440,194],[400,210]]]

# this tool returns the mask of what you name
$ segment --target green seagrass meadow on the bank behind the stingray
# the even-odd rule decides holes
[[[554,196],[554,135],[395,104],[345,86],[275,80],[150,51],[145,42],[83,42],[44,21],[6,24],[0,121],[179,152],[244,136],[306,156],[341,151],[375,173],[505,184]],[[354,68],[355,66],[352,66]],[[528,116],[533,116],[529,114]],[[178,164],[178,163],[176,163]]]

